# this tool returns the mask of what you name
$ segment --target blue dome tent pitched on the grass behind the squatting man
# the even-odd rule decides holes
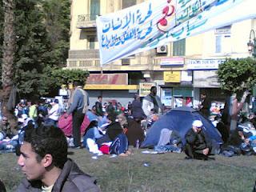
[[[167,128],[169,130],[176,130],[182,138],[182,143],[185,144],[185,135],[192,127],[194,120],[201,120],[203,129],[206,131],[207,136],[215,142],[215,144],[222,144],[222,137],[213,124],[205,118],[198,110],[182,106],[170,110],[167,114],[163,115],[157,122],[154,122],[146,134],[142,147],[156,146],[160,138],[161,130]]]

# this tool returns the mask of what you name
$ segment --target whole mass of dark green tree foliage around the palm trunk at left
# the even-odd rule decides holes
[[[54,81],[52,72],[61,69],[68,57],[70,0],[16,2],[14,13],[17,49],[14,83],[21,97],[48,95],[60,82],[60,80]],[[2,1],[0,10],[2,10]],[[0,26],[2,23],[3,13],[0,11]],[[2,58],[2,39],[3,30],[0,27],[0,58]],[[2,59],[0,64],[2,66]]]

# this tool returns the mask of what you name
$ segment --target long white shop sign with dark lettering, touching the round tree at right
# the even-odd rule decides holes
[[[225,59],[191,59],[187,62],[187,70],[218,70],[218,65]]]

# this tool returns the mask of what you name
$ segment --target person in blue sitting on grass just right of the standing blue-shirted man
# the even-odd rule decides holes
[[[86,128],[85,134],[83,135],[83,146],[87,149],[90,148],[90,146],[87,145],[87,139],[90,138],[96,142],[98,138],[102,138],[102,134],[98,130],[98,121],[93,120],[90,122],[89,126]],[[89,149],[90,150],[90,149]]]

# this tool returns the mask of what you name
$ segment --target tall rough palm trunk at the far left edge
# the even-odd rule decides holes
[[[9,119],[10,126],[17,125],[13,111],[8,110],[7,102],[14,85],[14,53],[16,49],[16,35],[14,31],[14,0],[2,0],[4,11],[3,46],[2,46],[2,113]]]

